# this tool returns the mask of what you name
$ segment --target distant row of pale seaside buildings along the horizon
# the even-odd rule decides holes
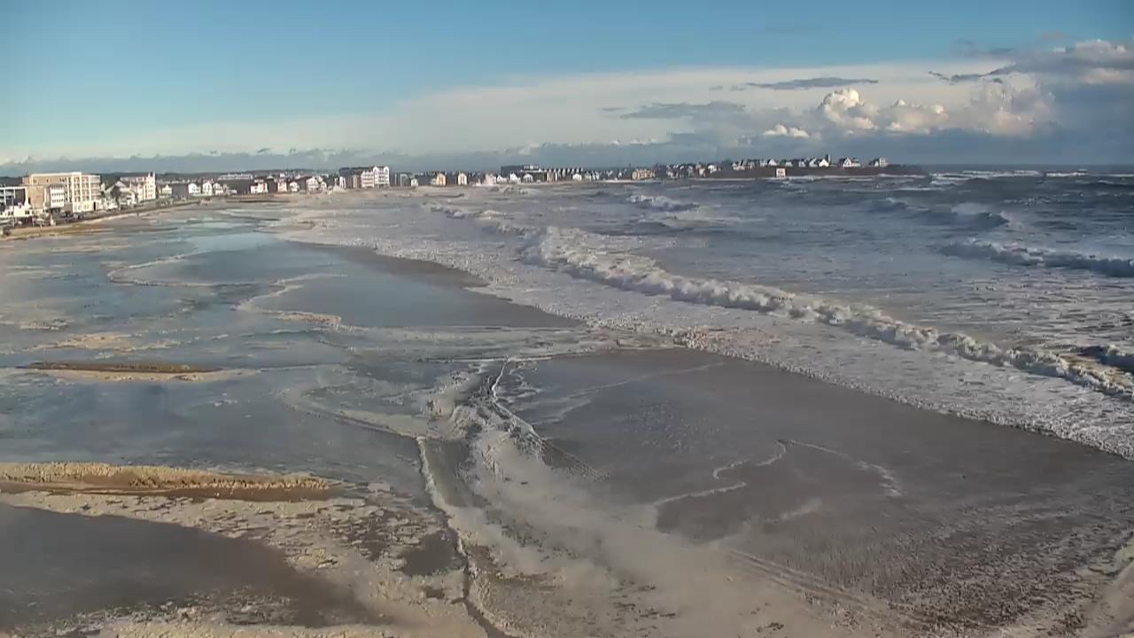
[[[807,175],[908,175],[911,166],[886,158],[866,163],[829,156],[794,159],[745,159],[652,167],[583,168],[535,165],[501,166],[499,173],[392,173],[389,166],[344,167],[338,171],[256,171],[185,176],[154,173],[94,175],[39,173],[0,183],[0,227],[78,221],[125,211],[142,211],[212,198],[313,194],[372,188],[497,186],[535,183],[648,182],[674,179],[789,178]]]

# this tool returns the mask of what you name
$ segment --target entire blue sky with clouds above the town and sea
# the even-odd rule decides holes
[[[0,0],[0,174],[1134,163],[1134,2]]]

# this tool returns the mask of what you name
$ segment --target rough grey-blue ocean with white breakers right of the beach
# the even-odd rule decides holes
[[[454,266],[596,327],[1134,459],[1131,174],[421,190],[299,217],[306,241]]]

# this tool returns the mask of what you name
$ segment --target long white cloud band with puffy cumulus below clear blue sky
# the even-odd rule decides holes
[[[108,121],[118,133],[95,143],[9,143],[3,152],[10,158],[128,157],[296,148],[469,157],[477,151],[545,156],[555,150],[562,153],[555,157],[562,158],[572,149],[617,146],[619,152],[633,148],[644,153],[661,152],[668,144],[679,148],[683,157],[712,157],[733,146],[788,151],[831,145],[836,151],[838,144],[871,148],[939,135],[974,135],[983,144],[1010,148],[1055,129],[1065,133],[1059,137],[1064,145],[1082,140],[1084,148],[1115,148],[1123,140],[1119,134],[1134,135],[1128,124],[1134,121],[1134,53],[1128,42],[1005,49],[992,57],[931,67],[937,75],[926,73],[924,62],[900,62],[514,77],[491,86],[416,95],[381,111],[346,117],[154,128]],[[722,93],[721,87],[729,86],[746,90]],[[8,121],[19,127],[18,117],[15,125]],[[16,138],[5,135],[5,125],[0,123],[0,138]],[[932,146],[926,142],[917,148]]]

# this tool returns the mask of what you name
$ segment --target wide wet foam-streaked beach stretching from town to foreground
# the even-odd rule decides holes
[[[890,344],[785,363],[841,327],[742,334],[709,322],[736,304],[595,282],[531,237],[508,252],[523,230],[490,207],[531,196],[486,196],[0,243],[0,633],[1134,631],[1134,463],[1123,422],[1092,421],[1100,393],[1013,378],[1064,384],[1098,426],[1060,437],[1000,422],[1013,403],[940,409],[951,381],[938,403],[886,372],[856,387]],[[548,263],[552,286],[525,270]],[[696,320],[649,324],[667,304]],[[912,377],[917,354],[886,356]],[[957,359],[942,379],[976,364]],[[966,392],[1004,373],[973,370]]]

